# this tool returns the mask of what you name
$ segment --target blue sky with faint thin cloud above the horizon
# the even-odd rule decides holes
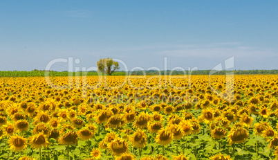
[[[167,69],[213,69],[234,57],[234,69],[278,69],[277,8],[276,0],[0,0],[0,70],[43,70],[68,57],[86,68],[112,57],[129,70],[164,69],[167,57]]]

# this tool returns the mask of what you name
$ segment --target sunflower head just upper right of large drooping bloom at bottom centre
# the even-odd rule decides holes
[[[147,136],[144,131],[138,129],[129,137],[129,141],[136,148],[145,148],[147,145]]]

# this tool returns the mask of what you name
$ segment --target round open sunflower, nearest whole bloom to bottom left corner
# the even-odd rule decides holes
[[[27,148],[27,139],[22,136],[11,136],[8,140],[10,149],[14,152],[21,152]]]

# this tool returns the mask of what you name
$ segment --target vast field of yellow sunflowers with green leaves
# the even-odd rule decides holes
[[[0,91],[0,159],[278,158],[278,75],[0,78]]]

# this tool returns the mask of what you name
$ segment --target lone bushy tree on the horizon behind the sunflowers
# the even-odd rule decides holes
[[[112,58],[100,59],[97,62],[98,71],[111,75],[116,69],[120,69],[119,63],[112,60]],[[113,68],[113,69],[112,69]]]

